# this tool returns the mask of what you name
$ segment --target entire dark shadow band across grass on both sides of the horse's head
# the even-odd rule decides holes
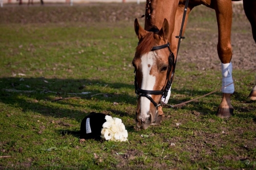
[[[104,87],[108,84],[109,93],[106,92]],[[92,88],[93,87],[93,88]],[[124,83],[109,83],[104,82],[102,80],[87,80],[87,79],[44,79],[44,78],[1,78],[0,79],[0,101],[4,104],[7,104],[11,107],[22,108],[23,111],[32,111],[37,112],[46,116],[53,117],[68,117],[76,119],[78,122],[81,121],[91,110],[102,110],[105,107],[102,107],[102,104],[98,104],[101,101],[114,103],[118,102],[121,105],[132,105],[133,108],[126,109],[127,111],[121,111],[118,109],[113,109],[111,106],[107,106],[105,109],[106,112],[112,112],[115,115],[119,116],[129,116],[131,118],[135,118],[135,108],[137,105],[136,95],[134,92],[133,84],[124,84]],[[23,90],[21,92],[8,92],[4,89],[11,90]],[[88,89],[88,90],[87,90]],[[123,90],[124,89],[124,90]],[[26,93],[25,90],[34,90],[34,92]],[[45,91],[55,91],[57,93],[45,93]],[[67,93],[81,93],[83,91],[90,91],[90,94],[86,96],[88,99],[86,107],[90,109],[84,110],[81,109],[84,104],[80,104],[78,102],[70,102],[69,100],[59,101],[59,102],[51,102],[54,98],[67,98],[67,97],[80,97],[81,95],[76,94],[67,94]],[[177,90],[173,89],[176,94],[186,94],[189,89]],[[60,94],[61,92],[61,94]],[[201,96],[210,91],[195,91],[193,90],[193,96]],[[93,99],[91,99],[91,95],[99,94],[102,95],[94,95]],[[106,94],[107,96],[103,96]],[[191,111],[199,111],[203,114],[216,114],[217,108],[221,101],[221,92],[217,92],[220,100],[212,100],[212,98],[206,96],[204,101],[195,101],[190,103],[189,105],[185,105],[180,109],[187,109]],[[83,97],[82,95],[81,97]],[[238,98],[238,101],[244,101],[241,98],[239,93],[234,94],[234,98]],[[169,103],[173,105],[179,104],[185,101],[190,100],[191,98],[186,95],[185,98],[181,99],[170,99]],[[90,101],[89,101],[90,100]],[[57,104],[56,104],[57,103]],[[104,104],[103,104],[104,105]],[[125,106],[126,107],[126,106]],[[80,109],[74,109],[80,108]],[[212,111],[212,108],[216,108],[216,111]],[[235,108],[239,109],[239,108]],[[172,110],[168,110],[167,112],[172,112]],[[254,118],[252,114],[249,115],[241,115],[238,116],[248,117],[251,116]]]

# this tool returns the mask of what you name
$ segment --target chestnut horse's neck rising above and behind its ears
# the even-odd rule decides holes
[[[144,29],[150,30],[153,26],[156,26],[161,30],[164,18],[166,18],[169,23],[168,41],[172,42],[178,3],[179,0],[147,0]]]

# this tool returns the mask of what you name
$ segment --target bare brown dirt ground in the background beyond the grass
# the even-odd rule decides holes
[[[63,23],[63,22],[133,22],[144,14],[144,3],[85,3],[74,4],[24,4],[5,5],[0,10],[1,23]],[[52,8],[55,7],[55,8]],[[59,8],[56,8],[59,7]],[[213,13],[213,14],[212,14]],[[215,15],[214,10],[196,7],[189,16],[185,32],[186,39],[181,42],[178,62],[195,63],[199,70],[220,70],[217,53],[218,27],[216,20],[195,21],[194,18],[204,15]],[[190,21],[190,20],[193,21]],[[214,29],[215,31],[212,31]],[[233,5],[233,22],[231,32],[232,64],[234,69],[252,70],[256,62],[256,44],[252,38],[250,23],[247,20],[243,5]],[[195,69],[187,67],[187,69]]]

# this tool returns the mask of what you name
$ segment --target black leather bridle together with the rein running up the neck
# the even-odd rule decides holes
[[[172,82],[174,79],[174,73],[175,73],[175,67],[176,67],[176,61],[177,61],[177,56],[178,56],[178,52],[179,52],[179,47],[180,47],[180,41],[181,39],[184,39],[185,37],[182,37],[182,32],[183,32],[183,26],[184,26],[184,22],[185,22],[185,17],[186,17],[186,12],[187,12],[187,7],[188,7],[188,1],[186,0],[185,3],[185,7],[184,7],[184,12],[183,12],[183,17],[182,17],[182,23],[181,23],[181,29],[180,29],[180,34],[179,36],[176,36],[176,38],[179,38],[179,42],[178,42],[178,47],[177,47],[177,55],[176,55],[176,59],[174,57],[174,53],[170,50],[170,43],[167,42],[167,44],[164,45],[159,45],[159,46],[153,46],[151,51],[156,51],[156,50],[161,50],[163,48],[168,47],[168,50],[170,52],[169,57],[168,57],[168,69],[167,69],[167,74],[166,74],[166,81],[167,84],[165,86],[165,88],[162,90],[143,90],[140,89],[138,87],[138,82],[136,79],[136,75],[134,76],[135,80],[134,80],[134,85],[135,85],[135,93],[137,94],[137,99],[139,100],[141,96],[146,97],[148,100],[150,100],[154,106],[158,109],[159,106],[164,106],[167,105],[165,104],[165,100],[164,102],[162,102],[162,99],[166,99],[166,96],[168,95],[168,91],[170,89],[170,87],[172,86]],[[144,17],[145,15],[142,15],[141,17]],[[151,31],[151,30],[150,30]],[[154,31],[154,30],[153,30]],[[172,70],[172,72],[171,72]],[[136,72],[136,70],[134,70],[134,73]],[[171,74],[172,73],[172,74]],[[170,76],[171,74],[171,76]],[[169,78],[170,77],[170,78]],[[160,103],[157,104],[150,95],[148,94],[153,94],[153,95],[162,95],[162,98],[160,100]]]

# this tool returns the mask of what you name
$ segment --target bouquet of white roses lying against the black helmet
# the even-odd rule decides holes
[[[105,140],[126,141],[128,137],[127,130],[120,118],[106,115],[106,122],[102,125],[101,136]]]

